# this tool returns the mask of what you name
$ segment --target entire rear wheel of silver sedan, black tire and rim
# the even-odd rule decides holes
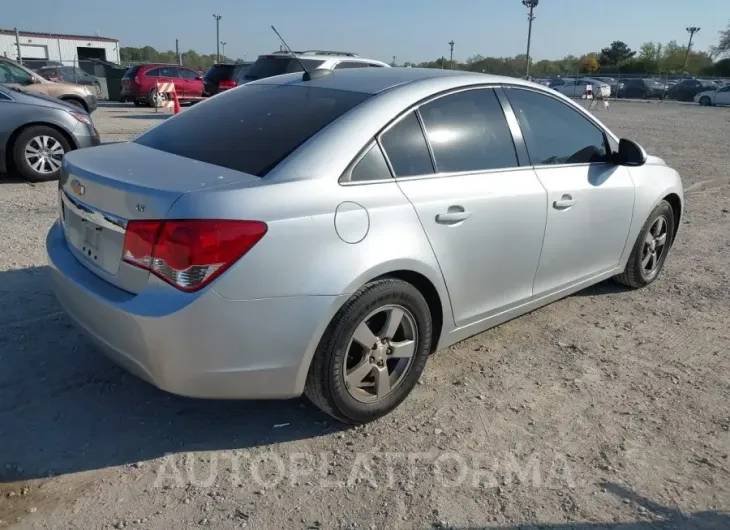
[[[432,333],[428,304],[413,285],[394,278],[369,283],[330,322],[304,393],[344,423],[385,416],[418,382]]]

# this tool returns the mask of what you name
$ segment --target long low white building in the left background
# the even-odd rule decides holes
[[[79,59],[119,63],[119,41],[99,36],[63,35],[20,31],[23,59],[48,59],[71,65]],[[0,29],[0,56],[18,60],[15,30]]]

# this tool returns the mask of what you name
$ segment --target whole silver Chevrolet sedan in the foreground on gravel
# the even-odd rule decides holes
[[[653,282],[676,171],[554,91],[450,70],[271,77],[64,159],[47,251],[118,363],[361,423],[432,352],[615,277]]]

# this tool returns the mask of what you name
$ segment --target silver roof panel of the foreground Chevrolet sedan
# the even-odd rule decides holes
[[[331,70],[331,72],[333,73],[330,75],[316,77],[310,81],[304,81],[301,73],[295,73],[267,77],[253,81],[251,84],[313,86],[365,94],[377,94],[398,85],[416,83],[427,79],[449,77],[453,78],[454,84],[457,86],[462,84],[460,81],[463,81],[464,85],[501,82],[526,86],[534,85],[534,83],[514,77],[437,68],[349,68]]]

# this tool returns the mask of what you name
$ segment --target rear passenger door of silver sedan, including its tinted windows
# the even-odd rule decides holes
[[[546,194],[535,172],[519,165],[495,91],[440,96],[406,115],[380,142],[436,254],[455,324],[529,300]]]

